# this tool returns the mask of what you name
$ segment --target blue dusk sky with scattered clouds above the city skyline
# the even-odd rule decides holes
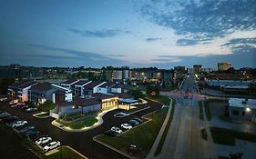
[[[256,67],[255,0],[0,0],[0,65]]]

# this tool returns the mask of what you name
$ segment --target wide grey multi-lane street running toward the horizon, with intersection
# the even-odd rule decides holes
[[[176,100],[176,107],[169,133],[156,158],[207,158],[203,153],[203,141],[200,137],[200,119],[198,102],[204,98],[197,93],[193,77],[185,79],[179,91],[162,93]],[[206,153],[208,155],[208,153]]]

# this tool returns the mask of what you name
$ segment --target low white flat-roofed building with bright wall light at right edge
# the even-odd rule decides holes
[[[234,119],[256,122],[256,99],[230,98],[229,114]]]

